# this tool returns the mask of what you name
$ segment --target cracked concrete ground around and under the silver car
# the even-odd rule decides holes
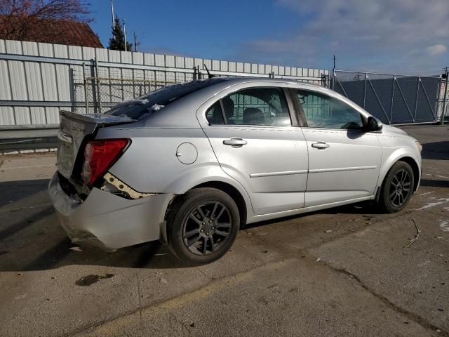
[[[449,336],[449,126],[406,130],[424,145],[406,211],[255,224],[202,267],[154,243],[69,249],[55,157],[1,157],[0,336]]]

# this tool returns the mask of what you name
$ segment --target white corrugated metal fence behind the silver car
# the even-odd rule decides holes
[[[314,83],[328,74],[318,69],[0,40],[0,126],[32,130],[58,124],[60,108],[82,113],[87,107],[91,112],[102,100],[104,112],[145,91],[192,81],[206,72],[203,65],[221,76],[272,74]]]

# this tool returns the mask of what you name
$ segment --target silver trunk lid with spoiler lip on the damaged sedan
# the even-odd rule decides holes
[[[136,119],[111,114],[77,114],[60,110],[60,130],[58,131],[58,171],[69,179],[72,176],[76,157],[84,150],[86,137],[93,138],[100,127],[133,123]]]

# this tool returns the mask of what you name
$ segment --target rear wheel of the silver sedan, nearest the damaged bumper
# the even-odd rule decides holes
[[[239,209],[229,194],[215,188],[190,190],[173,201],[167,216],[167,241],[189,265],[221,258],[239,231]]]

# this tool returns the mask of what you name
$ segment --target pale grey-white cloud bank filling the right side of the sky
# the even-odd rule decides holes
[[[250,41],[241,46],[243,57],[264,55],[267,62],[323,67],[330,65],[335,53],[340,69],[410,73],[439,72],[448,66],[440,56],[442,46],[449,45],[448,0],[277,0],[276,4],[297,15],[296,31],[286,32],[283,39]]]

